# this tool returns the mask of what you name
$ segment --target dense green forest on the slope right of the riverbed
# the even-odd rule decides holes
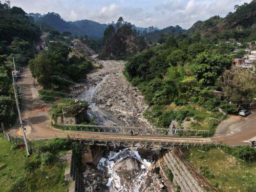
[[[242,5],[232,14],[253,4]],[[247,36],[253,33],[250,31]],[[238,53],[232,54],[232,51],[243,47],[226,44],[221,36],[216,39],[199,32],[168,38],[162,35],[158,41],[162,44],[128,59],[124,72],[143,92],[150,106],[144,114],[146,118],[168,127],[173,120],[181,123],[191,117],[200,122],[203,115],[198,115],[198,111],[218,114],[222,109],[236,113],[249,107],[256,90],[256,76],[249,69],[234,68],[233,64]],[[216,95],[218,92],[222,93],[221,97]],[[198,125],[214,133],[212,124],[216,123]]]

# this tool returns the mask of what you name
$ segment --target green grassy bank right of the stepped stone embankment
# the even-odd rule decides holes
[[[256,191],[255,161],[239,159],[215,147],[208,150],[192,147],[186,156],[208,182],[221,191]]]

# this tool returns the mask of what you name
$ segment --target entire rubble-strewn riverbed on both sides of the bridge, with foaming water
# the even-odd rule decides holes
[[[103,68],[88,74],[72,93],[90,103],[94,123],[115,126],[151,125],[142,117],[147,105],[139,90],[124,77],[124,62],[99,61]],[[160,150],[111,149],[97,166],[83,165],[84,191],[164,191],[156,160]],[[95,163],[95,162],[94,162]]]

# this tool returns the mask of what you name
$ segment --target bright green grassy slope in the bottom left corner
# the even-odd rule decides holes
[[[11,146],[0,135],[0,191],[67,191],[66,164],[55,162],[41,166],[40,158],[35,155],[27,158],[25,151],[11,150]],[[28,162],[36,162],[35,167],[28,170]]]

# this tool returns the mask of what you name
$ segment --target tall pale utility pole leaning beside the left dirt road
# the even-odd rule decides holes
[[[13,65],[14,65],[14,69],[15,69],[15,62],[14,62],[14,59],[13,59]],[[19,109],[19,105],[18,105],[18,96],[17,96],[16,82],[15,82],[15,78],[14,78],[14,77],[16,77],[16,70],[15,70],[14,72],[12,72],[12,80],[13,80],[12,85],[13,85],[14,96],[15,96],[16,105],[17,105],[19,123],[20,123],[20,127],[22,128],[25,146],[26,146],[27,154],[28,154],[28,156],[29,156],[29,155],[30,155],[30,154],[29,154],[29,147],[28,147],[26,132],[25,132],[25,129],[24,129],[24,126],[23,126],[22,114],[20,113],[20,109]]]

